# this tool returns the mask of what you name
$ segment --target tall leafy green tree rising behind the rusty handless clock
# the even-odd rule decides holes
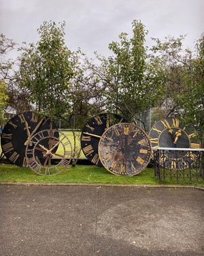
[[[159,59],[148,55],[145,46],[148,31],[139,20],[133,20],[133,37],[119,35],[120,43],[112,42],[113,56],[101,58],[104,94],[107,109],[123,113],[130,122],[142,121],[143,115],[163,94]]]

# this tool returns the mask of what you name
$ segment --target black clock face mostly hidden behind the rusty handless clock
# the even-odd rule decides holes
[[[114,118],[118,122],[120,122],[121,120],[122,120],[121,122],[126,122],[126,119],[124,117],[122,117],[121,115],[118,115],[115,113],[99,113],[98,115],[95,115],[95,116],[91,117],[90,119],[88,119],[88,121],[86,122],[86,124],[84,124],[84,127],[82,128],[82,132],[81,132],[81,136],[80,136],[80,145],[82,148],[82,152],[83,152],[84,156],[86,157],[86,159],[88,159],[93,165],[96,165],[98,167],[103,167],[103,164],[101,163],[101,160],[99,159],[99,150],[98,150],[99,140],[100,140],[99,137],[101,137],[103,132],[107,129],[107,128],[103,128],[103,126],[105,126],[104,121],[107,120],[108,117],[112,117],[112,116],[114,116]],[[99,126],[99,124],[97,124],[98,117],[100,117],[101,122],[103,122],[103,124],[101,124],[102,126]],[[95,122],[95,123],[93,123],[93,122]],[[87,127],[88,125],[90,126],[91,124],[92,124],[91,127],[94,128],[94,130],[95,129],[97,130],[96,133],[94,132],[94,130],[91,130],[91,128]],[[118,124],[118,123],[115,123],[115,124]],[[99,137],[91,137],[90,136],[90,143],[88,143],[88,141],[83,142],[82,139],[84,138],[84,132],[96,134]],[[84,148],[85,148],[85,150],[84,150]]]

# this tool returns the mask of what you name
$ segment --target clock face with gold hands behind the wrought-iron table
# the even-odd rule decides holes
[[[194,133],[191,129],[180,124],[179,119],[167,117],[162,119],[149,132],[152,148],[172,147],[171,152],[165,152],[160,158],[161,165],[167,169],[186,169],[189,167],[187,155],[179,151],[173,151],[173,148],[199,148],[200,144],[192,141]],[[193,160],[193,159],[192,159]]]

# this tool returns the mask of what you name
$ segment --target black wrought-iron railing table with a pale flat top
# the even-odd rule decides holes
[[[160,181],[204,181],[204,150],[157,147],[154,174]]]

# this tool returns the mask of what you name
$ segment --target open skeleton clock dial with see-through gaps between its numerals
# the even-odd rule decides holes
[[[51,165],[52,158],[56,158],[58,162],[56,165]],[[58,130],[41,130],[31,137],[27,144],[27,164],[39,175],[61,173],[68,167],[71,158],[71,142],[63,132]]]

